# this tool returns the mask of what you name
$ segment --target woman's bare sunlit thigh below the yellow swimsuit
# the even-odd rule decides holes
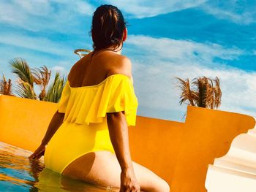
[[[132,162],[142,191],[169,191],[169,186],[157,174]],[[73,161],[62,174],[96,185],[120,187],[121,168],[116,155],[108,151],[88,153]]]

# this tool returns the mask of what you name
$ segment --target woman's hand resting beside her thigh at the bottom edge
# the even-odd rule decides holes
[[[121,172],[121,186],[120,192],[138,192],[140,191],[140,184],[131,169]]]

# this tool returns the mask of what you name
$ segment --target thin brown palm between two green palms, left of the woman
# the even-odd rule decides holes
[[[34,82],[40,86],[41,93],[39,93],[39,100],[44,100],[46,96],[46,87],[48,85],[48,82],[50,80],[50,74],[51,71],[48,70],[47,66],[42,66],[41,69],[35,68],[31,69],[33,74],[33,80]]]

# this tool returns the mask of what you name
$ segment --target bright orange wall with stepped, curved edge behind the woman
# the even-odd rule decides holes
[[[0,141],[34,151],[56,110],[54,103],[1,95]],[[185,123],[138,116],[129,145],[132,159],[167,180],[170,191],[200,192],[208,164],[254,126],[248,115],[188,107]]]

